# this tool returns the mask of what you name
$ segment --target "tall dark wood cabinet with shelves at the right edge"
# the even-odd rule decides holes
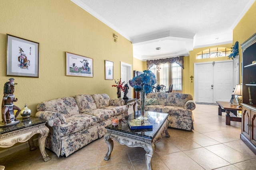
[[[256,33],[241,44],[242,61],[242,141],[256,154]],[[251,101],[249,99],[252,99]],[[253,104],[254,103],[254,104]]]

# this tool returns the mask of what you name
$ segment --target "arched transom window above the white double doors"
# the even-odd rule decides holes
[[[230,55],[232,49],[226,47],[214,47],[205,49],[196,54],[196,59],[208,59],[215,57],[226,57]]]

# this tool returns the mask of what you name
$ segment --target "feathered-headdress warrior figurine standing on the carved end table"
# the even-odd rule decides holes
[[[9,82],[4,84],[4,97],[2,101],[2,122],[4,122],[4,125],[17,121],[16,118],[18,117],[21,110],[20,107],[13,104],[13,102],[17,102],[18,100],[17,98],[15,99],[13,94],[14,85],[17,83],[14,83],[14,78],[10,78],[9,80]],[[14,110],[18,110],[15,116]]]

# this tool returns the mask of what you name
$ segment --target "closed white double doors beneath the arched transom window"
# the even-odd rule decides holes
[[[194,97],[196,102],[229,102],[233,89],[233,62],[194,64]]]

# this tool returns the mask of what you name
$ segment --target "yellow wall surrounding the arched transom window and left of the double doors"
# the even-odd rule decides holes
[[[228,60],[228,57],[218,57],[218,58],[209,58],[209,59],[198,59],[196,60],[196,54],[200,51],[203,51],[204,49],[209,49],[213,47],[226,47],[230,48],[232,47],[232,44],[224,44],[224,45],[218,45],[218,46],[210,46],[210,47],[203,47],[198,49],[193,49],[193,51],[189,52],[189,78],[190,76],[194,76],[194,63],[204,63],[204,62],[213,62],[213,61],[225,61]],[[191,94],[194,98],[194,79],[193,82],[189,82],[188,86],[190,86],[190,91],[188,92]]]

